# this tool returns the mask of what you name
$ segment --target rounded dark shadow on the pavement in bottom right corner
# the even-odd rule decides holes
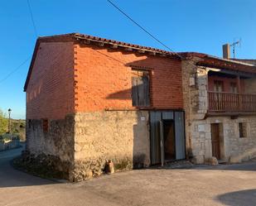
[[[217,196],[220,203],[229,206],[255,206],[256,189],[239,190]]]

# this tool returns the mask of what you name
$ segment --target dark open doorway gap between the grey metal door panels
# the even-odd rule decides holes
[[[163,121],[163,140],[165,161],[176,160],[174,121]]]

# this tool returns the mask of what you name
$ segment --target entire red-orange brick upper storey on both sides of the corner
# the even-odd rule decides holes
[[[183,108],[180,60],[73,42],[41,42],[27,86],[27,118],[135,109],[133,66],[150,71],[151,108]]]

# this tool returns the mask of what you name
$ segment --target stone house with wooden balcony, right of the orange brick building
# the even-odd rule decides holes
[[[256,66],[180,53],[186,148],[196,163],[239,162],[256,155]]]

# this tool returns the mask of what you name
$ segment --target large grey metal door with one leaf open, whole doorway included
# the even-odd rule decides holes
[[[150,126],[152,165],[186,158],[183,112],[151,112]]]

